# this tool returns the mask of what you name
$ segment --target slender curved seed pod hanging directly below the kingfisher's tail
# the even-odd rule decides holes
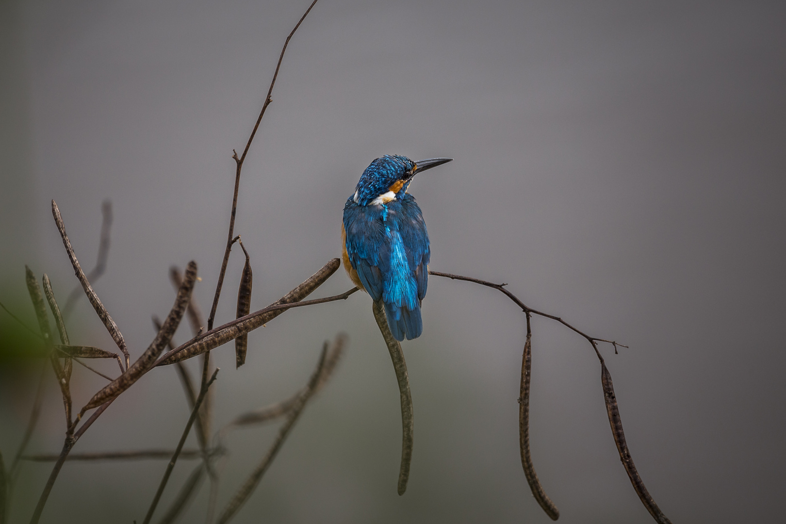
[[[410,377],[406,372],[406,361],[401,344],[396,340],[387,326],[387,317],[381,302],[373,303],[374,320],[380,327],[382,338],[385,339],[387,350],[391,354],[395,378],[399,383],[399,394],[401,395],[401,468],[399,469],[399,495],[406,492],[406,482],[410,479],[410,464],[412,462],[413,437],[415,431],[415,420],[412,409],[412,394],[410,393]]]

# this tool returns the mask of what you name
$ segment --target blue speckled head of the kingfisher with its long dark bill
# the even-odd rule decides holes
[[[388,203],[406,192],[413,176],[421,171],[431,169],[450,158],[431,158],[413,162],[406,156],[385,155],[365,168],[355,186],[353,200],[362,206],[369,204]]]

